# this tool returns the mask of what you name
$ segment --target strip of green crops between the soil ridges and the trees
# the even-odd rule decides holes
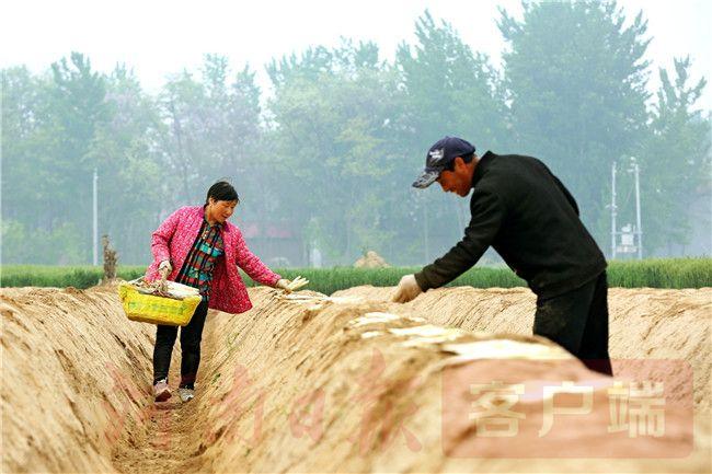
[[[331,294],[360,285],[389,287],[421,267],[364,269],[352,267],[276,269],[285,278],[302,275],[310,280],[309,289]],[[123,266],[118,277],[130,280],[141,276],[146,267]],[[59,267],[5,265],[0,267],[2,287],[74,287],[89,288],[102,278],[102,268],[93,266]],[[249,286],[254,285],[245,277]],[[712,258],[668,258],[610,262],[608,282],[624,288],[701,288],[712,286]],[[512,288],[526,286],[508,268],[474,267],[449,286],[469,285],[475,288]]]

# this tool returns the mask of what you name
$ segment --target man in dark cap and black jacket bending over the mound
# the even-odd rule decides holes
[[[452,281],[492,245],[537,294],[533,334],[548,337],[593,370],[612,374],[608,356],[606,258],[578,218],[576,201],[539,160],[517,154],[482,158],[457,137],[428,150],[413,183],[438,182],[470,198],[464,238],[415,275],[404,276],[393,301]]]

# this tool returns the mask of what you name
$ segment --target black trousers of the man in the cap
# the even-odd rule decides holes
[[[606,271],[567,293],[538,298],[533,333],[563,346],[589,369],[612,375]]]

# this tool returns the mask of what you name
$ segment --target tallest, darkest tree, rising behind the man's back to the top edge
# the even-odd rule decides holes
[[[501,13],[516,146],[562,178],[608,242],[611,164],[646,134],[647,23],[639,13],[624,26],[615,1],[525,3],[521,21]]]

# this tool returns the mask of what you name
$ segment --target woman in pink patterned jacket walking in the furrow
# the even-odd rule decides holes
[[[200,338],[208,308],[242,313],[252,308],[238,266],[262,285],[290,291],[290,281],[267,268],[245,245],[240,230],[228,222],[240,199],[232,185],[210,186],[204,206],[182,207],[153,232],[153,263],[146,273],[151,281],[166,279],[198,288],[203,301],[191,322],[181,328],[181,383],[179,395],[188,402],[195,395],[200,363]],[[153,348],[153,395],[157,402],[171,397],[168,372],[177,326],[159,324]]]

